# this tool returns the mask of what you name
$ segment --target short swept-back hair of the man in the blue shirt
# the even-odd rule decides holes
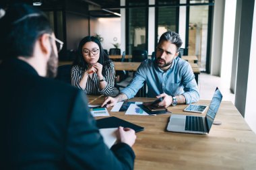
[[[160,45],[163,41],[169,41],[170,43],[175,44],[177,47],[177,52],[179,52],[179,49],[183,43],[181,37],[176,32],[164,32],[164,34],[162,34],[160,37],[158,45]]]

